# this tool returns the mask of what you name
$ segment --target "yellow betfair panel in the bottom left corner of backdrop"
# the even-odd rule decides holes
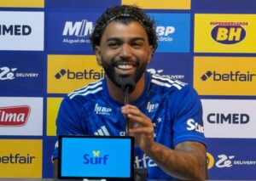
[[[42,178],[42,140],[1,139],[0,144],[1,178]]]

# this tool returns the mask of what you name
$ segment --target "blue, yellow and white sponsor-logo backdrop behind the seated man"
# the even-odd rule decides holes
[[[53,177],[61,99],[104,73],[88,35],[105,8],[134,3],[157,22],[148,71],[201,96],[210,179],[256,179],[255,0],[1,0],[0,178]]]

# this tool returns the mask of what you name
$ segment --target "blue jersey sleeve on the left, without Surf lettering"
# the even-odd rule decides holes
[[[82,104],[76,99],[69,99],[64,97],[61,102],[61,106],[56,118],[56,134],[68,135],[68,134],[83,134],[81,127],[80,112],[82,110]],[[58,157],[58,142],[55,144],[55,150],[52,156],[52,160]]]

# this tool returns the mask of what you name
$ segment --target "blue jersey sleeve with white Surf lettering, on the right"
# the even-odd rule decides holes
[[[195,89],[186,85],[177,91],[173,144],[197,141],[206,145],[204,136],[201,100]]]

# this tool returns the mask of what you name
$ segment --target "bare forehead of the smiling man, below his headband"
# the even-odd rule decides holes
[[[142,37],[143,39],[148,40],[147,32],[143,25],[137,21],[131,21],[127,24],[120,21],[113,21],[109,23],[102,34],[102,41],[112,37],[121,39]]]

